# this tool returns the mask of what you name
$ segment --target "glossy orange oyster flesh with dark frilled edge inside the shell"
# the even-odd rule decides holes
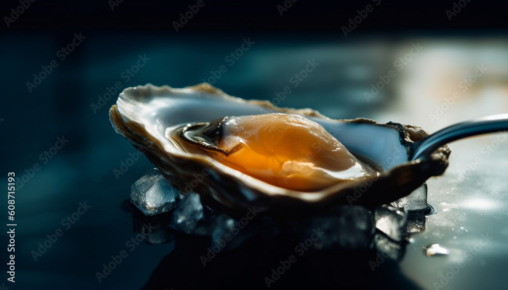
[[[197,129],[187,126],[182,139],[228,167],[287,189],[317,191],[378,174],[320,124],[298,115],[226,117]]]

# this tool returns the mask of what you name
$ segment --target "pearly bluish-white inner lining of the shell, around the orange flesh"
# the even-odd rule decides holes
[[[150,84],[124,90],[118,99],[118,111],[124,121],[152,124],[145,129],[158,140],[167,140],[167,127],[212,121],[225,116],[257,115],[280,112],[265,102],[249,102],[218,93],[202,92],[193,88],[155,87]],[[408,162],[407,149],[397,128],[372,123],[333,120],[310,109],[291,110],[321,124],[348,150],[378,170],[386,171]],[[174,144],[163,143],[165,150],[175,152]],[[177,153],[177,152],[175,152]],[[375,164],[373,164],[375,163]]]

